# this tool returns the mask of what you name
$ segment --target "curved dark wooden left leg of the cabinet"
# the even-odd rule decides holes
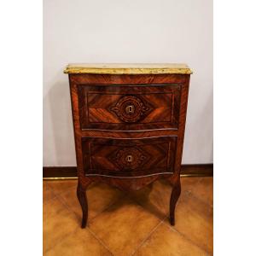
[[[81,228],[84,229],[87,224],[87,218],[88,218],[88,203],[87,203],[87,196],[86,196],[86,188],[90,184],[90,180],[86,180],[86,183],[80,183],[78,184],[77,189],[77,195],[79,199],[79,203],[82,207],[83,212],[83,218],[82,218],[82,225]]]

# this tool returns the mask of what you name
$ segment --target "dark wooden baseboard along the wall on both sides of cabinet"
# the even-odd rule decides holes
[[[211,177],[213,164],[182,165],[182,177]],[[73,179],[77,178],[76,166],[43,167],[44,179]]]

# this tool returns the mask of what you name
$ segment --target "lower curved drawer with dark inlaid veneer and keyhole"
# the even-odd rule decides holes
[[[84,174],[142,177],[172,172],[176,143],[177,137],[85,137],[82,139]]]

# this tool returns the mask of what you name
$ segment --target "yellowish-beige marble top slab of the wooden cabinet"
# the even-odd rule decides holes
[[[160,63],[160,64],[68,64],[64,73],[97,73],[97,74],[191,74],[186,64]]]

